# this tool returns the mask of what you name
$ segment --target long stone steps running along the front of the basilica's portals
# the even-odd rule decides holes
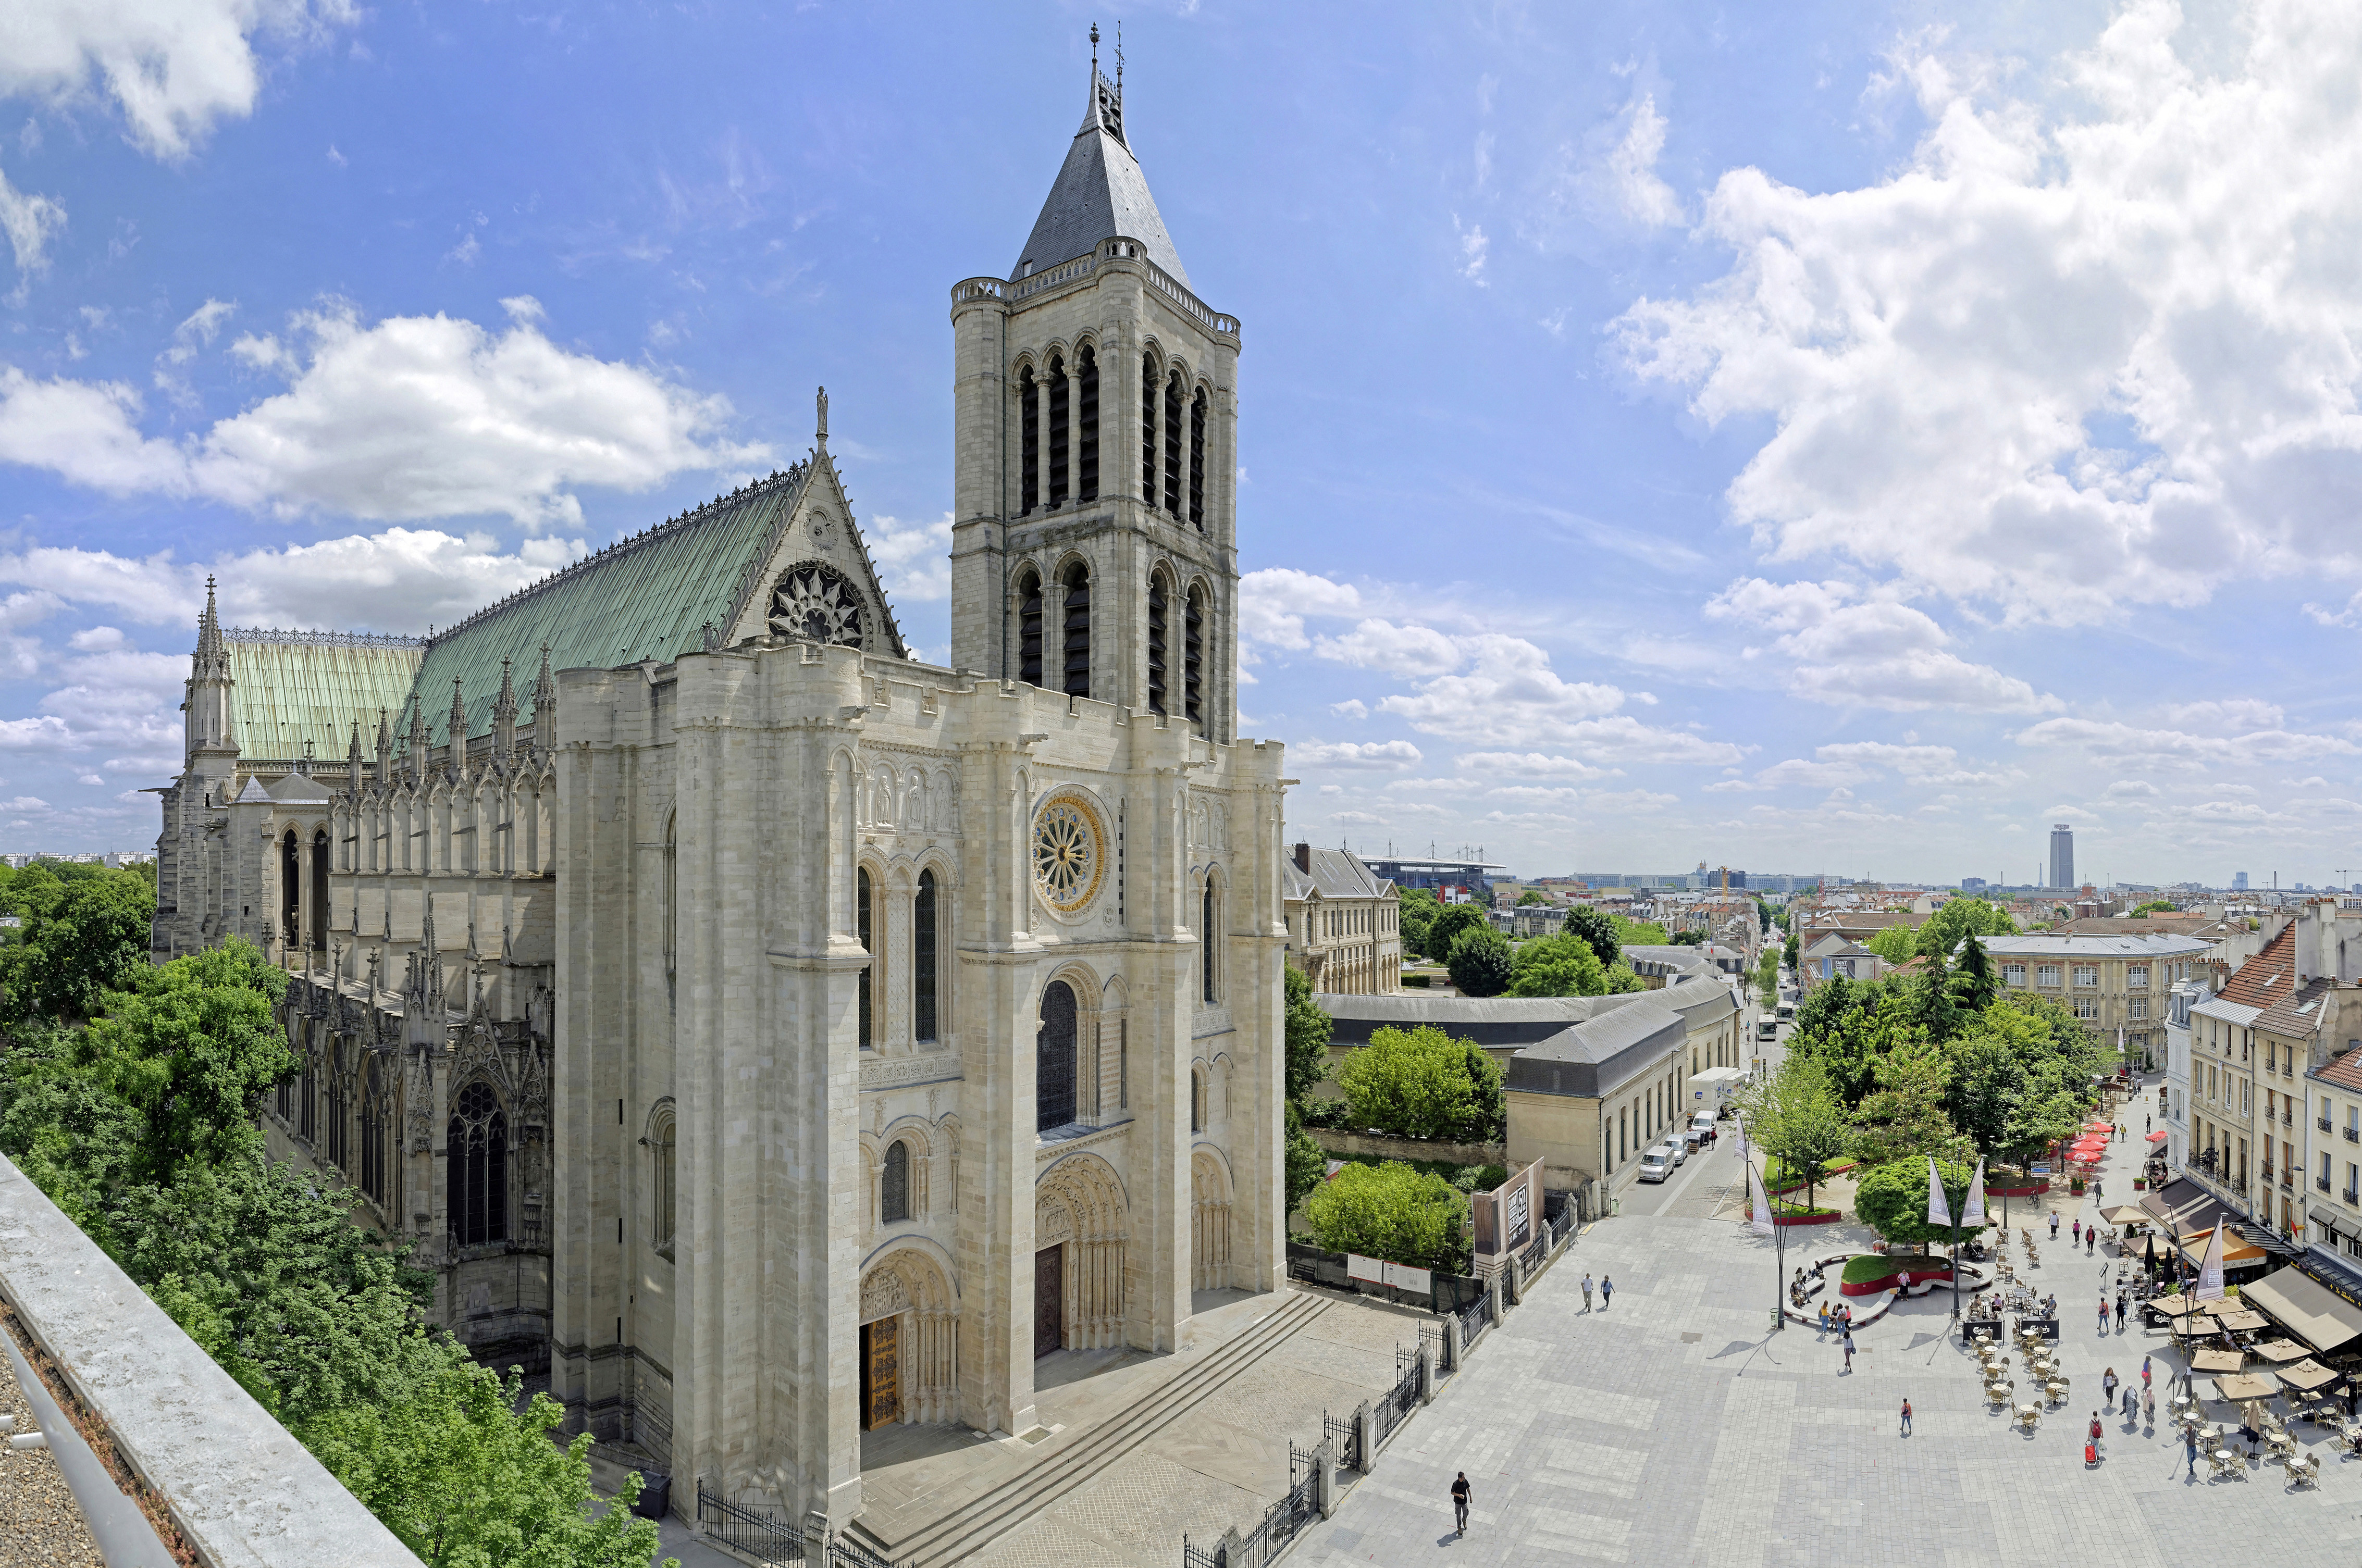
[[[1016,1530],[1087,1481],[1094,1481],[1110,1464],[1157,1436],[1174,1417],[1188,1412],[1233,1377],[1287,1344],[1287,1339],[1309,1327],[1330,1306],[1327,1299],[1290,1292],[1283,1306],[1216,1346],[1202,1363],[1160,1386],[1122,1417],[1077,1433],[1065,1448],[1039,1455],[1037,1464],[980,1492],[976,1500],[905,1533],[900,1540],[888,1540],[862,1518],[853,1521],[850,1535],[905,1568],[957,1563],[999,1535]]]

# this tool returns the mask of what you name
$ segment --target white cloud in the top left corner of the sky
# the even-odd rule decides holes
[[[253,111],[262,90],[255,38],[293,47],[357,17],[350,0],[9,0],[0,97],[59,109],[111,99],[135,146],[187,158],[215,123]]]

